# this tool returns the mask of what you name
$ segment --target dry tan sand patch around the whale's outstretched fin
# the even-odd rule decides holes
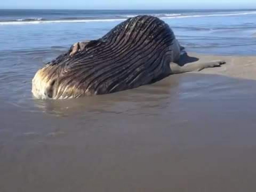
[[[196,73],[216,74],[242,79],[256,80],[256,56],[218,56],[197,53],[189,53],[188,55],[199,58],[198,62],[219,59],[225,60],[227,62],[221,67],[207,68]]]

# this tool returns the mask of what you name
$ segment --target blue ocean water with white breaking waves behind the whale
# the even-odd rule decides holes
[[[139,14],[168,23],[188,51],[254,54],[256,10],[0,10],[0,51],[65,49]]]

